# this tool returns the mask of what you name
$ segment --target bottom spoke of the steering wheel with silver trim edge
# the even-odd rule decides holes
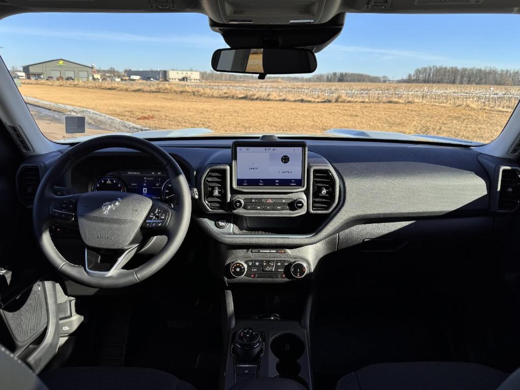
[[[120,270],[134,256],[138,244],[125,250],[100,250],[85,247],[85,272],[88,276],[108,278]]]

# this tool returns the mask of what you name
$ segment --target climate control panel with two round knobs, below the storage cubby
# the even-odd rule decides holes
[[[301,279],[307,272],[307,263],[294,258],[247,258],[227,266],[230,279]]]

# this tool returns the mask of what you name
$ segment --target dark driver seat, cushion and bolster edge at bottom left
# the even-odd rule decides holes
[[[195,390],[176,376],[151,368],[74,367],[40,377],[0,345],[0,378],[5,390]]]

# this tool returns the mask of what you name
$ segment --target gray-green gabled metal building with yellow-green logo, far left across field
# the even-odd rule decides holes
[[[25,65],[23,73],[30,80],[47,80],[50,77],[59,80],[92,80],[92,67],[61,58]]]

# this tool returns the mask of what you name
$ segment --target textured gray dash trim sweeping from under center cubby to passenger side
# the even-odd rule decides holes
[[[329,148],[323,154],[342,178],[342,206],[313,234],[221,235],[204,218],[196,220],[210,236],[225,244],[294,248],[378,220],[489,212],[489,177],[477,161],[478,153],[471,149],[374,146],[340,148],[340,152],[334,155]]]

